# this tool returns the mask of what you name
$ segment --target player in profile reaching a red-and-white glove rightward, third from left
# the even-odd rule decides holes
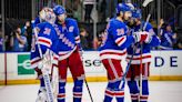
[[[109,80],[103,102],[111,102],[113,96],[117,98],[117,102],[123,102],[124,82],[121,81],[123,76],[121,60],[124,60],[128,47],[148,39],[145,33],[127,35],[128,28],[124,21],[131,16],[131,8],[127,3],[119,3],[117,18],[111,19],[107,27],[107,34],[100,48],[100,58]]]

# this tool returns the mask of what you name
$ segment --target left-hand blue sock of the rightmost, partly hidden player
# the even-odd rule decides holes
[[[139,102],[139,86],[135,80],[128,81],[132,102]]]

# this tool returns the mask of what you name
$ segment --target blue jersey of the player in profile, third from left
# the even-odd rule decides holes
[[[122,60],[127,54],[127,48],[134,42],[132,35],[127,35],[128,28],[124,22],[117,19],[111,19],[107,30],[104,41],[100,47],[101,59],[118,59]]]

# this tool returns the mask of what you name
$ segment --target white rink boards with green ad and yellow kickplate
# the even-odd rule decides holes
[[[7,59],[7,60],[4,60]],[[0,84],[4,80],[4,69],[7,68],[8,84],[38,83],[36,72],[30,68],[30,53],[0,53]],[[98,51],[84,51],[84,70],[88,81],[107,81],[105,69],[103,68]],[[125,70],[127,62],[122,61]],[[182,80],[182,51],[152,51],[150,80]],[[68,72],[68,81],[71,74]]]

